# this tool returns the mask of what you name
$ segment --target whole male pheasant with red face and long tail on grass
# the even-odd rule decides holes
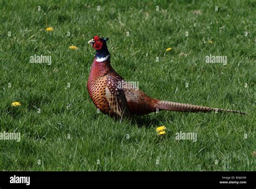
[[[97,109],[114,117],[128,117],[143,115],[151,112],[169,110],[180,112],[233,112],[234,110],[217,109],[192,104],[175,103],[158,100],[147,96],[136,89],[112,68],[110,64],[110,52],[107,50],[108,38],[94,36],[89,44],[96,50],[87,90]],[[122,85],[120,85],[122,84]],[[122,87],[120,87],[122,86]]]

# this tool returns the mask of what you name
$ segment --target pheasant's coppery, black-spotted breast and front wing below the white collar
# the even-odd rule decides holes
[[[118,81],[122,79],[113,70],[110,61],[93,61],[87,89],[92,102],[101,112],[120,117],[130,116],[124,90],[117,87]]]

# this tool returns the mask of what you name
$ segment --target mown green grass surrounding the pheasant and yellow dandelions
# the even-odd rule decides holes
[[[0,126],[22,139],[0,140],[0,170],[255,171],[255,6],[1,0]],[[149,96],[248,116],[163,111],[120,123],[97,113],[86,89],[95,54],[87,41],[95,35],[110,38],[113,68]],[[29,63],[35,54],[52,56],[51,65]],[[227,65],[206,64],[210,54],[227,56]],[[22,105],[10,107],[14,101]],[[167,127],[163,137],[156,135],[160,125]],[[197,141],[176,140],[180,131],[196,132]]]

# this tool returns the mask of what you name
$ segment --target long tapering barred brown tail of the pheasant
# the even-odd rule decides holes
[[[192,104],[183,104],[183,103],[174,103],[169,101],[159,100],[155,104],[155,109],[159,110],[169,110],[169,111],[179,111],[179,112],[227,112],[227,113],[240,113],[245,114],[240,111],[235,110],[225,110],[225,109],[218,109],[214,107],[206,107],[206,106],[198,106]]]

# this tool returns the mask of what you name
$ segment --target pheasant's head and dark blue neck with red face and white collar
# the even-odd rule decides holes
[[[92,48],[96,50],[96,61],[105,62],[110,59],[109,50],[107,50],[107,40],[109,38],[94,36],[88,43],[91,43]]]

